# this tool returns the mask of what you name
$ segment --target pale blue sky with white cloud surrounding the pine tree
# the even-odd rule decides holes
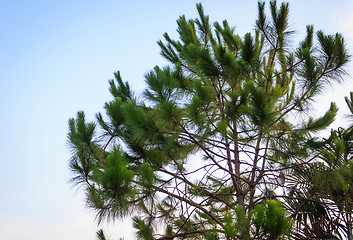
[[[0,240],[93,240],[102,227],[111,239],[134,239],[129,221],[97,226],[82,192],[68,183],[68,119],[88,120],[110,101],[108,80],[120,70],[141,92],[144,75],[166,62],[157,40],[174,38],[176,20],[195,18],[193,0],[0,0]],[[255,0],[201,1],[211,22],[227,19],[243,36],[254,29]],[[353,1],[293,0],[290,26],[301,39],[307,24],[341,32],[353,54]],[[347,67],[353,75],[353,67]],[[353,79],[327,88],[315,104],[335,101],[346,126],[344,96]]]

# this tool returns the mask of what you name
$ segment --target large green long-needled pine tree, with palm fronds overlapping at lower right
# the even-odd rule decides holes
[[[294,48],[289,6],[276,1],[269,16],[258,3],[243,37],[197,10],[177,20],[179,40],[158,42],[170,65],[146,74],[143,94],[117,72],[106,114],[69,120],[72,181],[98,222],[133,216],[145,240],[352,239],[353,131],[317,138],[334,103],[310,117],[313,99],[346,74],[343,37],[309,25]]]

